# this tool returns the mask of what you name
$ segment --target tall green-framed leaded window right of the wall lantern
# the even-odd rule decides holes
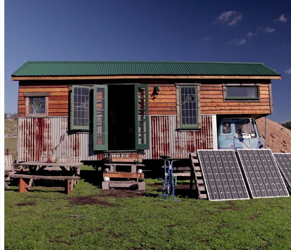
[[[180,127],[198,128],[197,86],[179,86]]]

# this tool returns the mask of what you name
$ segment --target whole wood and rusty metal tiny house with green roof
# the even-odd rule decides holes
[[[254,119],[273,112],[271,79],[280,75],[263,63],[26,62],[12,79],[19,81],[18,161],[56,148],[57,156],[92,163],[108,153],[188,158],[217,149],[227,134],[220,128],[235,131],[241,118],[254,131],[238,140],[252,147]]]

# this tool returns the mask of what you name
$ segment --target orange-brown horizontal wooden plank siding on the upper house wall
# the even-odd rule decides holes
[[[148,83],[149,115],[177,115],[177,95],[174,82],[163,83],[154,81]],[[101,83],[101,82],[100,82]],[[18,113],[25,116],[25,97],[23,93],[49,92],[49,116],[68,116],[69,114],[69,88],[68,84],[45,81],[19,82]],[[78,85],[78,81],[74,82]],[[160,94],[154,95],[154,87],[159,85]],[[269,81],[260,83],[259,101],[225,101],[222,83],[202,82],[200,85],[200,111],[201,114],[270,114],[272,101]]]

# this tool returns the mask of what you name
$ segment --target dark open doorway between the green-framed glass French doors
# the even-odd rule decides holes
[[[108,150],[135,149],[134,85],[108,85]]]

